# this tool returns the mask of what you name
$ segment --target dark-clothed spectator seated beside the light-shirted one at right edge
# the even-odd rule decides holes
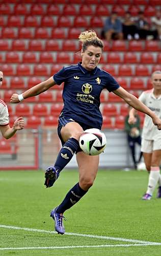
[[[144,17],[143,12],[138,13],[138,19],[136,20],[136,26],[140,39],[157,39],[157,30],[150,30],[149,23]],[[139,39],[138,38],[138,39]]]

